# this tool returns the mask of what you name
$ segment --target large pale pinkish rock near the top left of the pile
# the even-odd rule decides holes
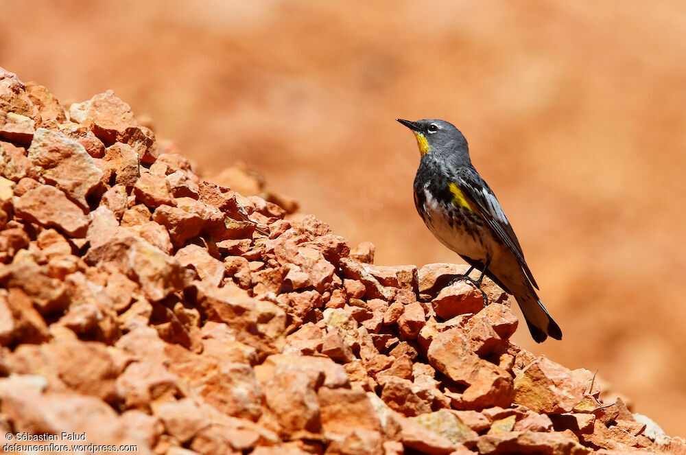
[[[88,209],[86,196],[100,183],[102,171],[83,145],[60,132],[38,128],[27,157],[43,170],[41,176],[76,202]]]

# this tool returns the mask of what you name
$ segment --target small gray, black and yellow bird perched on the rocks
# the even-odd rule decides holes
[[[475,170],[462,132],[443,120],[397,119],[417,138],[421,162],[414,177],[414,205],[436,238],[514,296],[532,338],[562,339],[541,303],[531,270],[495,194]],[[484,294],[485,295],[485,294]]]

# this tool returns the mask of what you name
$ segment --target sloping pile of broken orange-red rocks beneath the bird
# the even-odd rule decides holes
[[[0,69],[0,174],[4,432],[174,455],[683,450],[510,342],[493,283],[484,307],[447,285],[461,266],[374,266],[372,244],[203,181],[111,91],[67,113]]]

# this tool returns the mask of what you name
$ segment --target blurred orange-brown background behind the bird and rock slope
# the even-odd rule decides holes
[[[686,3],[0,0],[0,66],[63,103],[113,89],[211,178],[243,160],[377,264],[460,261],[416,215],[416,142],[468,139],[563,328],[686,436]],[[518,311],[518,310],[517,310]]]

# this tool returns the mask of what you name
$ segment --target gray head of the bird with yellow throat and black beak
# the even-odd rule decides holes
[[[443,159],[459,157],[469,161],[467,140],[453,124],[438,119],[396,120],[414,132],[422,157],[431,156]]]

